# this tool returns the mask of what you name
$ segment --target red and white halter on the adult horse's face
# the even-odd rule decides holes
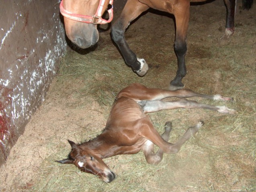
[[[102,14],[103,14],[102,9],[103,9],[103,6],[105,4],[105,1],[106,0],[100,0],[98,9],[97,9],[96,13],[94,14],[94,16],[86,16],[86,15],[80,15],[80,14],[75,14],[75,13],[69,12],[68,10],[66,10],[63,7],[63,0],[60,2],[59,9],[60,9],[60,13],[64,17],[66,17],[68,19],[71,19],[71,20],[84,22],[84,23],[92,23],[92,24],[95,24],[95,25],[96,24],[106,24],[106,23],[111,22],[112,19],[113,19],[113,0],[109,1],[109,4],[111,5],[111,8],[109,10],[107,10],[107,12],[109,13],[109,19],[108,20],[102,19]]]

